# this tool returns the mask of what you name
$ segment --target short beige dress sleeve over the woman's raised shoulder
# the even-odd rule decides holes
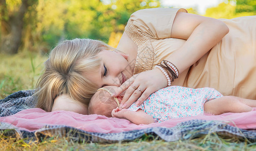
[[[132,39],[142,39],[140,35],[142,33],[142,36],[146,36],[147,38],[168,38],[170,37],[170,31],[177,12],[187,13],[187,10],[180,8],[152,8],[139,10],[131,15],[124,31]],[[138,36],[140,38],[138,38]]]

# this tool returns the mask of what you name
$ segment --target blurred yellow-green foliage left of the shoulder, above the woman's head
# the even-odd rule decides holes
[[[23,43],[31,43],[27,45],[31,45],[32,51],[39,48],[44,52],[64,39],[91,38],[108,43],[112,32],[123,32],[133,12],[155,7],[160,7],[157,0],[38,0],[35,22],[25,35],[34,43],[25,39]]]

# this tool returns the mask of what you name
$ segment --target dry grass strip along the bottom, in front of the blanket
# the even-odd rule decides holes
[[[166,142],[150,140],[150,137],[130,142],[95,143],[73,142],[68,138],[50,138],[42,142],[16,140],[0,137],[1,150],[255,150],[255,143],[239,141],[235,138],[221,138],[206,135],[199,138]]]

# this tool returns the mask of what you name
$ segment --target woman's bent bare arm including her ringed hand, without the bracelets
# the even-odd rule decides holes
[[[199,60],[229,32],[227,25],[222,21],[182,12],[177,13],[170,30],[172,30],[171,38],[186,40],[179,50],[173,52],[166,59],[176,65],[180,73]],[[141,91],[130,87],[131,84]],[[137,103],[140,105],[150,94],[166,86],[165,75],[159,69],[154,68],[134,75],[115,92],[118,96],[126,90],[121,107],[127,108],[137,99]]]

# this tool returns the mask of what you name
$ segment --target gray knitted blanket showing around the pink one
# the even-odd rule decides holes
[[[11,94],[3,100],[0,100],[0,116],[13,115],[19,111],[28,108],[34,108],[36,99],[32,98],[34,90],[19,91]],[[163,139],[166,141],[176,141],[179,139],[188,139],[205,135],[209,133],[217,133],[225,137],[237,137],[241,140],[256,141],[255,130],[240,129],[220,121],[205,121],[205,120],[189,120],[181,122],[175,127],[152,127],[140,130],[131,130],[119,133],[97,133],[88,132],[75,127],[65,125],[45,125],[35,131],[25,131],[15,127],[11,123],[0,123],[0,129],[6,136],[16,138],[27,138],[26,140],[41,141],[48,137],[65,136],[75,141],[93,141],[93,142],[118,142],[134,140],[151,135],[154,138]]]

